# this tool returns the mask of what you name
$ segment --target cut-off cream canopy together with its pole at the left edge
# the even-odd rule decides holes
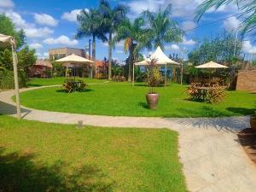
[[[17,117],[20,119],[20,94],[19,94],[19,79],[18,79],[18,70],[17,70],[17,53],[16,53],[16,44],[15,38],[8,35],[0,34],[0,43],[3,45],[10,44],[12,47],[13,55],[13,65],[14,65],[14,75],[15,75],[15,96],[16,96],[16,105],[17,105]]]

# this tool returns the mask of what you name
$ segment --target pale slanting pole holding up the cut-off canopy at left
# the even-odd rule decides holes
[[[15,96],[16,96],[16,105],[17,105],[17,118],[20,119],[20,91],[19,91],[19,79],[18,79],[18,70],[17,70],[18,58],[17,58],[17,54],[16,54],[15,38],[14,38],[14,42],[11,44],[11,46],[12,46],[12,54],[13,54],[13,62],[14,62]]]

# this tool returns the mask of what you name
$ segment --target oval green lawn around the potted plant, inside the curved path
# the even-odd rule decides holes
[[[211,104],[188,101],[186,89],[179,84],[157,88],[157,110],[147,108],[148,88],[142,84],[93,84],[85,92],[71,94],[62,92],[61,87],[44,88],[21,93],[20,101],[30,108],[113,116],[222,117],[247,115],[255,110],[255,94],[227,91],[225,102]]]

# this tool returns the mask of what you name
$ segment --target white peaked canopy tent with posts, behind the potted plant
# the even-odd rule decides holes
[[[172,61],[168,56],[166,56],[166,54],[162,51],[162,49],[160,49],[160,46],[157,47],[157,49],[154,51],[152,55],[149,56],[148,59],[144,61],[136,62],[134,63],[134,65],[147,67],[149,65],[148,62],[152,60],[156,61],[155,63],[156,66],[166,67],[166,69],[167,69],[167,65],[175,66],[175,67],[182,66],[182,64],[176,61]],[[166,77],[167,77],[167,73],[166,73]],[[133,66],[133,84],[134,84],[134,66]]]

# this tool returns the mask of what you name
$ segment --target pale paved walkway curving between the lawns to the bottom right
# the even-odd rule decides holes
[[[21,91],[38,88],[28,88]],[[15,116],[13,90],[0,92],[0,113]],[[189,191],[255,192],[256,166],[238,142],[236,131],[249,127],[248,117],[139,118],[58,113],[22,107],[22,118],[62,124],[168,128],[179,133],[179,158]]]

